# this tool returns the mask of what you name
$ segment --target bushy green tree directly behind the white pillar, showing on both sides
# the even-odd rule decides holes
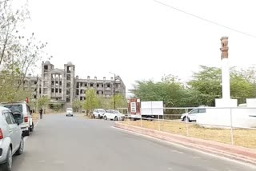
[[[188,82],[187,99],[192,105],[215,105],[215,98],[222,98],[222,71],[220,68],[200,66]],[[243,103],[246,98],[255,97],[254,75],[244,70],[230,70],[230,96]]]

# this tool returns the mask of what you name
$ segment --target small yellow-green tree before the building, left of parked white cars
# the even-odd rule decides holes
[[[92,110],[97,108],[99,105],[98,97],[94,89],[86,90],[86,100],[82,104],[83,109],[86,109],[86,113],[89,113],[90,117]]]

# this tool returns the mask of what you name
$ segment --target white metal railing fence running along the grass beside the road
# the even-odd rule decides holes
[[[149,129],[157,129],[168,133],[180,134],[188,137],[198,137],[210,141],[218,141],[231,145],[240,145],[256,149],[256,127],[239,124],[250,122],[250,125],[256,125],[256,108],[234,107],[234,108],[216,108],[216,107],[188,107],[188,108],[162,108],[163,115],[152,117],[139,116],[136,121],[132,121],[126,108],[119,109],[123,113],[127,111],[125,121],[128,125],[139,126]],[[182,120],[181,116],[190,118],[189,113],[192,109],[206,109],[204,117],[214,117],[212,112],[216,111],[218,121],[199,122]],[[211,114],[207,115],[207,111]],[[184,114],[186,113],[186,114]],[[183,114],[183,115],[182,115]],[[201,113],[198,113],[198,115]],[[223,114],[223,117],[222,117]],[[246,117],[247,116],[247,117]],[[210,119],[209,119],[210,120]],[[226,123],[224,123],[226,121]]]

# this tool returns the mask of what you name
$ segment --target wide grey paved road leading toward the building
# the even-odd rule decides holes
[[[114,129],[113,121],[47,115],[26,139],[13,171],[255,170]]]

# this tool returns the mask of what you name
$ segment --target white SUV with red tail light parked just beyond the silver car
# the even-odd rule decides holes
[[[23,135],[29,136],[30,132],[33,132],[34,123],[30,113],[30,106],[27,105],[26,101],[2,102],[0,105],[10,109],[14,113],[14,117],[22,119],[19,127],[22,129]]]

